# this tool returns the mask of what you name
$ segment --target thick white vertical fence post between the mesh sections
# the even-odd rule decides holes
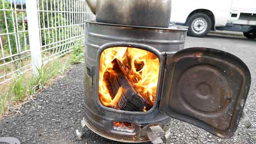
[[[38,74],[37,68],[42,66],[40,30],[38,20],[37,0],[26,0],[28,17],[28,36],[34,74]]]

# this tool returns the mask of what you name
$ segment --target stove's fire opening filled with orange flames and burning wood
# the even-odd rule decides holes
[[[152,52],[107,48],[100,56],[100,102],[118,110],[150,110],[156,98],[159,68],[159,59]]]

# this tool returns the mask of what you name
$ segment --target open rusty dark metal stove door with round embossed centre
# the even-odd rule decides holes
[[[236,56],[210,48],[167,55],[159,109],[218,137],[236,131],[250,89],[250,71]]]

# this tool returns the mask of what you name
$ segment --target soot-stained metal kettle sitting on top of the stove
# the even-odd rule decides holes
[[[97,22],[168,28],[171,0],[86,0]]]

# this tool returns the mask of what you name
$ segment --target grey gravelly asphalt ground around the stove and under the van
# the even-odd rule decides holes
[[[186,48],[206,46],[230,52],[248,65],[252,74],[252,85],[245,111],[256,122],[256,40],[211,35],[206,38],[188,37]],[[58,78],[34,101],[21,109],[21,116],[12,116],[0,122],[0,137],[13,136],[22,144],[121,144],[102,138],[86,129],[82,141],[77,141],[75,130],[83,116],[83,73],[84,65],[79,64]],[[256,134],[249,133],[239,125],[231,139],[220,139],[208,132],[180,122],[171,122],[172,143],[174,144],[255,144]],[[150,144],[150,143],[149,143]]]

